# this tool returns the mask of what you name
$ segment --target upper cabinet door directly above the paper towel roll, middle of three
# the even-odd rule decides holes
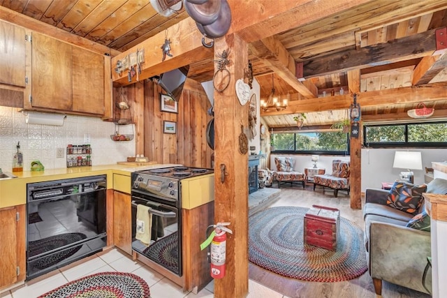
[[[32,106],[71,111],[72,46],[35,32],[32,48]]]

